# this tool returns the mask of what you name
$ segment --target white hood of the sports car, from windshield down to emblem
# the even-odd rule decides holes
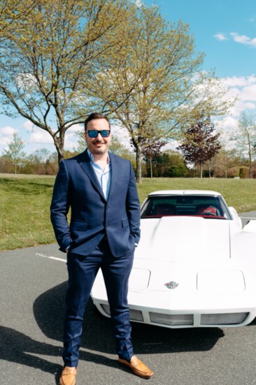
[[[226,219],[142,219],[129,289],[172,292],[172,283],[178,284],[177,294],[241,293],[243,269],[231,259],[232,240],[240,234],[241,228]]]

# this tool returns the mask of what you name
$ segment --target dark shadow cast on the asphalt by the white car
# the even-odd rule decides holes
[[[34,302],[34,317],[42,332],[62,342],[64,298],[67,283],[45,291]],[[132,324],[132,338],[136,354],[207,351],[212,349],[224,333],[220,328],[168,329]],[[111,320],[94,310],[92,300],[87,304],[83,325],[82,347],[106,354],[115,354]],[[80,357],[82,358],[82,357]]]

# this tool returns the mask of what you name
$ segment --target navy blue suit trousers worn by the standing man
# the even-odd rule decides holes
[[[111,254],[105,237],[90,256],[68,252],[69,285],[66,291],[64,352],[62,355],[64,365],[71,367],[78,365],[83,314],[99,268],[102,270],[111,309],[117,354],[127,361],[130,361],[134,355],[127,303],[128,280],[133,259],[134,249],[124,256],[115,258]]]

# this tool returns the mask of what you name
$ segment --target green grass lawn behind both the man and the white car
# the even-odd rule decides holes
[[[49,209],[54,181],[52,176],[0,175],[1,250],[55,242]],[[143,179],[138,185],[141,203],[148,193],[161,189],[211,189],[238,212],[256,210],[256,180]]]

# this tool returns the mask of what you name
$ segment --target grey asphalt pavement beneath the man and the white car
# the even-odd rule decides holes
[[[243,224],[256,212],[242,213]],[[66,256],[57,245],[0,252],[1,385],[58,384]],[[256,321],[240,328],[167,329],[132,324],[150,380],[120,368],[109,319],[85,311],[77,385],[256,384]]]

